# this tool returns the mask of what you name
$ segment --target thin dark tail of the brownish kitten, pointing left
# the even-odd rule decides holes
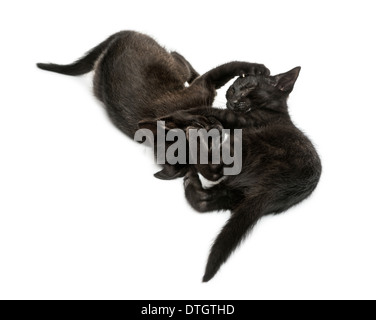
[[[68,76],[80,76],[94,69],[95,62],[100,55],[108,48],[117,34],[111,36],[101,44],[90,50],[83,58],[67,65],[54,63],[37,63],[37,67],[43,70],[62,73]]]

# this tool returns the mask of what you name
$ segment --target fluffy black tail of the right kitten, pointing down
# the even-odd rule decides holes
[[[203,282],[210,281],[216,275],[261,216],[262,203],[256,199],[243,204],[233,212],[212,246]]]

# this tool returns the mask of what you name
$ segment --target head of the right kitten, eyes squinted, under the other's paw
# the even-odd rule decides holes
[[[299,76],[300,67],[276,76],[244,75],[226,93],[227,108],[247,113],[261,109],[270,102],[286,101]]]

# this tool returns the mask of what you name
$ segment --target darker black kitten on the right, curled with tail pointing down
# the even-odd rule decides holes
[[[288,113],[287,98],[299,72],[300,67],[274,77],[239,78],[227,92],[228,109],[198,108],[165,118],[182,128],[194,125],[195,117],[215,117],[224,128],[243,128],[239,175],[227,176],[210,189],[203,188],[194,167],[185,176],[185,193],[193,208],[232,212],[211,249],[205,282],[262,216],[288,210],[306,199],[319,182],[320,158]]]

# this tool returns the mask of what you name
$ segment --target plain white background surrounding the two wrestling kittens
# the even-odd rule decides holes
[[[1,2],[0,298],[376,298],[375,21],[374,1]],[[153,177],[91,75],[35,67],[127,29],[201,73],[231,60],[302,66],[290,111],[321,154],[319,188],[263,219],[208,284],[229,214],[195,213],[181,180]]]

